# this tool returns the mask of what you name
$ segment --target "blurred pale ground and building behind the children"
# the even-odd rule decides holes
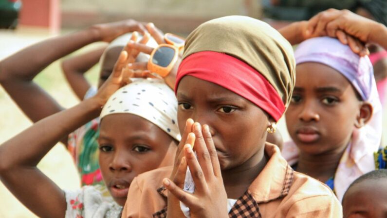
[[[40,40],[101,22],[131,18],[153,22],[165,33],[186,36],[204,21],[226,15],[250,16],[279,28],[294,20],[307,20],[319,11],[331,7],[356,11],[360,3],[368,1],[370,0],[0,0],[0,60]],[[74,54],[96,46],[98,43],[88,45]],[[87,74],[93,84],[97,81],[97,68],[98,66],[94,66]],[[66,108],[78,102],[63,77],[58,61],[44,69],[35,81]],[[0,117],[0,143],[31,125],[30,120],[1,87]],[[283,138],[289,139],[283,120],[279,128]],[[57,144],[38,167],[63,189],[79,187],[75,166],[62,144]],[[0,218],[35,217],[1,183],[0,199]]]

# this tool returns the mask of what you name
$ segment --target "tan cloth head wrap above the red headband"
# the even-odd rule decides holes
[[[202,51],[224,53],[255,68],[287,107],[295,85],[293,48],[267,23],[244,16],[207,21],[185,41],[184,57]]]

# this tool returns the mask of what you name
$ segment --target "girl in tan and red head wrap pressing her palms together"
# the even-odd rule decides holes
[[[291,99],[294,64],[292,46],[259,20],[223,17],[194,30],[175,86],[178,158],[133,180],[122,217],[184,217],[179,199],[191,217],[340,217],[332,191],[265,142]],[[184,145],[192,138],[197,158]],[[193,194],[183,191],[187,165]]]

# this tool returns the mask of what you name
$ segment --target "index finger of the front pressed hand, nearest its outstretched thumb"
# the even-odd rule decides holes
[[[195,192],[206,192],[208,187],[203,169],[189,144],[184,145],[184,157],[187,160],[189,170],[191,171],[192,178],[195,182]]]

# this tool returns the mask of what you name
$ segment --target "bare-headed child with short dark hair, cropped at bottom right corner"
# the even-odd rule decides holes
[[[357,178],[343,197],[344,218],[382,218],[387,214],[387,170],[374,170]]]

